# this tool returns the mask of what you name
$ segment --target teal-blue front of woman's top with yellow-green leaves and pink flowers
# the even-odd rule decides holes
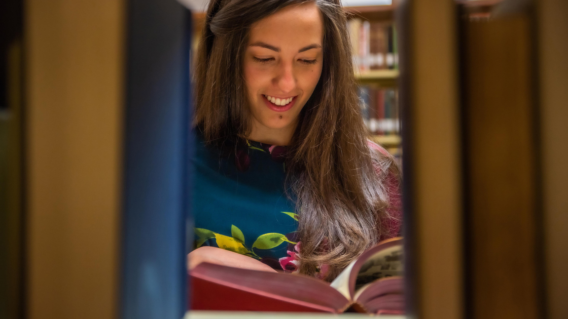
[[[286,196],[285,146],[240,141],[234,149],[206,145],[198,135],[191,157],[195,245],[296,270],[298,216]]]

